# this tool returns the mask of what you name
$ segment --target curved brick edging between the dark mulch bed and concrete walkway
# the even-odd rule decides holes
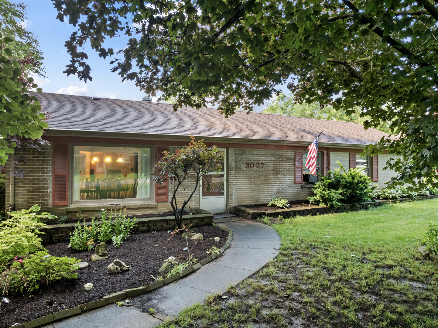
[[[189,215],[187,215],[187,216],[189,216]],[[190,216],[193,216],[193,215],[190,215]],[[154,218],[154,219],[156,219],[156,218]],[[228,231],[228,239],[227,239],[226,243],[224,244],[224,246],[221,248],[221,250],[219,250],[219,252],[220,252],[219,256],[220,256],[223,254],[223,252],[228,247],[230,247],[231,240],[233,240],[233,230],[231,230],[230,228],[227,228],[226,226],[221,226],[219,224],[216,224],[215,226],[217,226],[223,230]],[[209,257],[206,257],[204,260],[186,268],[180,274],[171,275],[170,277],[168,277],[166,279],[158,280],[158,281],[153,282],[152,284],[146,285],[144,287],[125,289],[125,290],[122,290],[121,292],[117,292],[117,293],[103,296],[102,300],[84,303],[84,304],[78,305],[77,307],[74,307],[72,309],[67,309],[67,310],[55,312],[55,313],[46,315],[44,317],[39,317],[39,318],[33,319],[31,321],[27,321],[23,324],[18,324],[16,326],[11,326],[11,327],[14,327],[14,328],[39,327],[39,326],[42,326],[45,324],[49,324],[50,322],[53,322],[53,321],[58,321],[61,319],[65,319],[67,317],[71,317],[71,316],[76,315],[76,314],[82,314],[84,311],[94,310],[98,307],[104,307],[104,306],[106,306],[110,303],[113,303],[113,302],[126,300],[129,297],[134,297],[134,296],[146,294],[154,289],[157,289],[159,287],[162,287],[164,285],[169,284],[170,282],[173,282],[177,279],[180,279],[180,278],[184,277],[185,275],[188,275],[189,273],[194,272],[195,270],[198,270],[199,268],[201,268],[202,266],[206,265],[207,263],[213,261],[217,257],[218,256],[216,255],[216,253],[212,254]]]

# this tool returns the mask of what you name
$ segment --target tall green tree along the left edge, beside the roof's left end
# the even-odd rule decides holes
[[[48,128],[46,115],[30,88],[42,92],[30,75],[43,75],[43,57],[38,40],[25,27],[25,5],[0,0],[0,166],[11,161],[10,174],[23,177],[20,163],[25,156],[11,156],[15,148],[41,151],[48,143],[41,139]]]

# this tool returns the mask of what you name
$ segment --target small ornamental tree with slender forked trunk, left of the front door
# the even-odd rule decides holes
[[[223,153],[216,146],[207,148],[204,144],[204,139],[194,141],[193,134],[190,135],[191,142],[188,146],[177,149],[175,154],[170,152],[163,152],[162,161],[155,164],[150,174],[153,175],[153,181],[162,184],[164,180],[168,180],[173,185],[173,195],[170,205],[173,208],[173,214],[177,220],[177,225],[183,224],[184,207],[192,198],[194,192],[198,188],[199,181],[202,176],[208,172],[219,172],[224,161]],[[177,206],[177,191],[189,174],[194,173],[196,176],[195,186],[187,200],[183,202],[181,211],[178,212]],[[166,178],[167,176],[167,178]],[[207,190],[210,186],[207,186]]]

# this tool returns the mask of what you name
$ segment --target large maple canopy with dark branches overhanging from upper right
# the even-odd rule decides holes
[[[288,85],[298,103],[390,122],[389,138],[365,151],[399,157],[392,185],[438,187],[438,4],[430,0],[52,0],[78,31],[65,71],[91,79],[85,42],[113,56],[113,71],[174,109],[219,103],[225,116],[251,111]]]

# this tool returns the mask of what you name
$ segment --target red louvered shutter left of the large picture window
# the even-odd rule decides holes
[[[53,145],[52,205],[68,205],[68,145]]]

